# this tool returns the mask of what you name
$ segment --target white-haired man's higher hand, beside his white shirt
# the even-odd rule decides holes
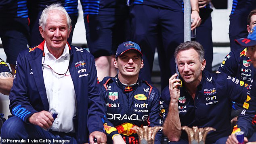
[[[54,121],[52,114],[50,114],[50,112],[47,112],[45,110],[32,114],[28,118],[28,120],[31,124],[40,126],[41,128],[44,128],[44,129],[49,129],[52,126],[52,122]]]

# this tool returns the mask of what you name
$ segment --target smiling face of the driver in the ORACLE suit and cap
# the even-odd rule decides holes
[[[130,79],[135,77],[135,83],[138,79],[138,73],[143,68],[143,60],[139,53],[135,50],[126,51],[118,59],[114,60],[114,66],[118,68],[118,78],[122,82],[122,79]]]

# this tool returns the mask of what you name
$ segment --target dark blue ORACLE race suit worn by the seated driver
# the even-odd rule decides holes
[[[138,80],[132,86],[123,85],[118,76],[105,77],[101,81],[105,104],[107,108],[107,144],[111,144],[114,134],[121,134],[126,144],[138,144],[139,139],[133,126],[162,126],[159,116],[160,93],[157,88],[146,81]],[[161,144],[162,136],[158,132],[155,144]]]

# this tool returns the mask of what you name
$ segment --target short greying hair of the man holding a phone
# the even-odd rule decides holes
[[[204,60],[203,46],[200,43],[198,43],[197,41],[186,41],[184,43],[181,43],[178,47],[176,47],[176,49],[174,51],[175,62],[177,62],[176,57],[177,57],[178,53],[180,51],[185,51],[188,49],[194,49],[198,53],[198,57],[199,57],[200,61]]]

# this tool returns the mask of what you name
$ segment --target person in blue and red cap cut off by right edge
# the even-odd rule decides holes
[[[256,68],[256,31],[251,28],[247,39],[241,38],[236,40],[239,45],[247,48],[246,57],[250,57],[250,63]],[[229,138],[222,138],[218,144],[238,144],[235,132],[243,131],[246,137],[245,142],[256,142],[256,77],[252,78],[247,99],[243,103],[243,111],[238,117],[237,125],[234,126]]]

